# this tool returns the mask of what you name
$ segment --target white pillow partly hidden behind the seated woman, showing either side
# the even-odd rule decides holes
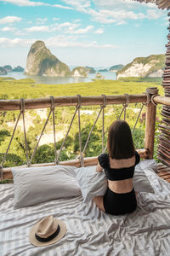
[[[91,201],[96,195],[105,195],[107,189],[105,172],[96,172],[95,169],[96,166],[88,166],[77,168],[75,170],[77,182],[82,189],[84,202]],[[135,166],[133,188],[138,192],[154,193],[154,189],[152,189],[149,179],[139,165]]]

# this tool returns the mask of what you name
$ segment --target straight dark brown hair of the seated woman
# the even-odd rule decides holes
[[[116,120],[109,128],[107,140],[109,156],[113,159],[127,159],[135,154],[133,137],[126,121]]]

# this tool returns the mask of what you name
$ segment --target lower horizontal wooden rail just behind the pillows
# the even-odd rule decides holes
[[[149,155],[149,150],[147,149],[138,149],[137,150],[140,157],[146,159]],[[98,157],[86,157],[84,158],[84,166],[96,166],[98,164]],[[66,161],[61,161],[59,162],[59,165],[61,166],[76,166],[76,167],[81,167],[81,162],[80,160],[66,160]],[[44,163],[44,164],[34,164],[31,165],[30,167],[40,167],[40,166],[54,166],[53,163]],[[13,168],[27,168],[27,166],[15,166]],[[11,168],[3,168],[3,179],[12,179],[13,175],[11,172]]]

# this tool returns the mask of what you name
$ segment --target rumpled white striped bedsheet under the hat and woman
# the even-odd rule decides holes
[[[169,256],[170,184],[148,171],[156,193],[139,193],[138,208],[124,216],[100,212],[82,196],[14,210],[14,185],[0,186],[1,256]],[[65,237],[48,247],[33,247],[29,230],[53,214],[65,221]]]

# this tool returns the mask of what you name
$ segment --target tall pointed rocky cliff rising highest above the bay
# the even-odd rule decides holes
[[[37,41],[31,45],[28,53],[26,74],[65,77],[70,76],[71,71],[65,63],[51,54],[42,41]]]

